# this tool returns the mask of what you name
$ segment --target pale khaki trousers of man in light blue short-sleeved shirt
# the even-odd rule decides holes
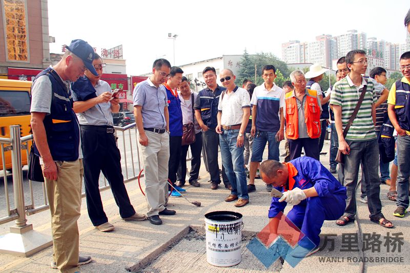
[[[148,145],[139,145],[144,160],[145,198],[147,216],[158,215],[165,209],[166,193],[168,196],[168,161],[170,158],[170,136],[145,131]]]

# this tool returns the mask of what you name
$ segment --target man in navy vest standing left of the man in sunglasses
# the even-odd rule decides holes
[[[202,151],[206,153],[208,171],[211,176],[211,189],[216,190],[218,184],[221,182],[218,164],[219,135],[215,132],[216,125],[218,125],[216,115],[218,114],[219,96],[222,91],[226,90],[226,88],[220,87],[216,83],[215,68],[206,67],[202,72],[202,76],[207,84],[207,88],[199,91],[199,94],[195,99],[195,118],[198,121],[199,126],[202,128],[204,146]],[[228,181],[223,165],[222,180],[225,187],[231,191],[232,186]]]

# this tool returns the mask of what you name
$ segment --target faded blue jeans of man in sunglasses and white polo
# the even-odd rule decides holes
[[[238,134],[239,129],[222,130],[222,134],[219,135],[222,165],[225,168],[229,182],[231,182],[231,194],[248,200],[247,176],[243,167],[244,149],[243,146],[236,146]]]

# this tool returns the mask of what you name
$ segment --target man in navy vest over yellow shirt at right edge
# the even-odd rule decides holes
[[[401,80],[393,83],[388,94],[387,113],[397,131],[397,208],[393,215],[404,217],[407,213],[408,176],[410,175],[410,51],[400,56]]]

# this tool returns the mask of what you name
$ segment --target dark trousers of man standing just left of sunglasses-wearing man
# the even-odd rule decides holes
[[[211,182],[221,182],[219,176],[219,164],[218,164],[218,145],[219,145],[219,134],[215,130],[209,129],[207,132],[202,132],[202,137],[204,141],[204,151],[207,154],[206,158],[208,161],[208,171],[211,175]],[[225,168],[222,165],[222,180],[225,186],[229,185],[229,180],[225,174]]]

